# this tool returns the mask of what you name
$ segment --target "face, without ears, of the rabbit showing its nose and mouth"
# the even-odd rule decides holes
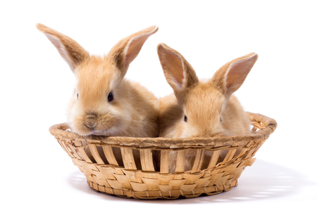
[[[107,57],[95,56],[76,69],[77,85],[70,99],[68,122],[77,134],[113,134],[119,125],[123,127],[124,119],[129,119],[129,113],[123,113],[125,94],[116,69]]]

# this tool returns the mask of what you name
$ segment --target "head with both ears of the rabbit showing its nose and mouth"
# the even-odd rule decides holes
[[[132,117],[130,87],[124,76],[144,42],[158,27],[152,26],[121,39],[106,56],[90,56],[76,41],[42,24],[43,32],[66,60],[76,79],[68,106],[68,124],[80,135],[112,135]]]

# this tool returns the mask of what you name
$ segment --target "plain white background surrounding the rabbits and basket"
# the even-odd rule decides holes
[[[1,1],[0,23],[5,210],[316,208],[313,1]],[[126,75],[158,97],[172,92],[156,54],[160,42],[182,53],[200,78],[256,52],[259,60],[236,96],[245,110],[273,117],[278,128],[239,186],[227,193],[151,201],[95,193],[49,134],[52,124],[66,121],[75,80],[36,23],[72,37],[92,54],[107,53],[123,37],[158,25]]]

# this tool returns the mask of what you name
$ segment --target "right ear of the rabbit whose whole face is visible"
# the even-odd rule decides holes
[[[131,34],[129,37],[121,39],[113,48],[109,51],[109,57],[115,65],[121,71],[122,77],[125,76],[130,63],[137,57],[139,51],[147,39],[157,32],[159,27],[151,26],[145,30],[139,31],[135,34]]]

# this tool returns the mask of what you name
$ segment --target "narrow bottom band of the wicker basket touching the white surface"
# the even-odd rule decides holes
[[[214,185],[208,187],[201,187],[201,188],[194,188],[192,191],[183,191],[182,189],[175,189],[170,191],[161,191],[161,190],[154,190],[154,191],[133,191],[128,189],[114,189],[114,188],[107,188],[106,186],[100,186],[98,184],[94,184],[92,181],[87,181],[89,187],[92,190],[111,194],[115,196],[119,196],[122,198],[138,198],[138,199],[158,199],[158,198],[165,198],[165,199],[176,199],[179,197],[185,198],[196,198],[201,196],[201,194],[205,196],[211,196],[218,193],[230,191],[232,188],[237,186],[237,179],[232,180],[230,184],[223,184],[223,185]]]

